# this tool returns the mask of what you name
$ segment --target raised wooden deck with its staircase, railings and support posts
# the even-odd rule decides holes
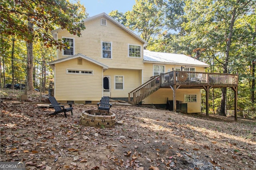
[[[209,116],[209,90],[212,88],[230,87],[235,93],[234,110],[237,120],[238,75],[225,73],[205,73],[194,71],[170,71],[151,77],[149,81],[128,93],[128,102],[136,105],[160,88],[171,88],[173,91],[174,110],[176,110],[177,89],[204,89],[206,91],[206,117]]]

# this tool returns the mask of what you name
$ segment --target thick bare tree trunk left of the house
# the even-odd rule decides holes
[[[28,53],[28,60],[27,60],[27,82],[28,82],[28,90],[34,91],[34,84],[33,84],[33,23],[28,21],[28,29],[30,33],[30,38],[26,42],[27,45],[27,53]]]

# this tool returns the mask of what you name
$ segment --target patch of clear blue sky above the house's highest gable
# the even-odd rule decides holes
[[[80,3],[86,8],[89,17],[105,12],[109,14],[111,11],[125,13],[132,10],[135,0],[80,0]]]

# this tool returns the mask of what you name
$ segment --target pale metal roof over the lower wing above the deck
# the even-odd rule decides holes
[[[204,62],[184,54],[162,53],[148,50],[144,50],[143,60],[145,63],[171,63],[176,65],[210,67],[210,65]]]

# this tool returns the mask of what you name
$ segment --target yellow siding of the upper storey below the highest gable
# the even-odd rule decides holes
[[[107,19],[107,18],[105,18]],[[75,54],[82,53],[92,59],[108,65],[109,68],[137,69],[143,66],[143,57],[128,57],[128,44],[141,45],[143,56],[143,43],[128,32],[107,19],[107,26],[100,25],[100,18],[85,23],[86,29],[82,36],[74,36],[63,30],[58,33],[58,39],[62,37],[74,38]],[[102,41],[112,42],[112,59],[102,58]],[[58,50],[58,58],[62,51]]]

